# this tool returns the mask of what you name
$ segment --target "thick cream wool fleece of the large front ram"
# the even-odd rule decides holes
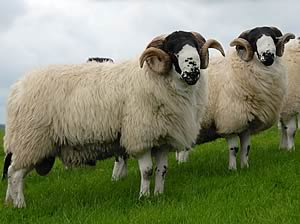
[[[107,145],[120,136],[121,147],[134,156],[161,144],[189,147],[207,102],[206,76],[178,89],[172,72],[159,75],[147,64],[141,69],[134,59],[52,65],[27,74],[7,103],[4,145],[14,168],[32,166],[58,146]]]

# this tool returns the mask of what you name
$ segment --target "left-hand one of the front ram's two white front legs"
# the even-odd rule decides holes
[[[150,195],[150,179],[153,173],[151,150],[147,150],[146,153],[138,158],[139,168],[141,172],[141,188],[140,198]]]

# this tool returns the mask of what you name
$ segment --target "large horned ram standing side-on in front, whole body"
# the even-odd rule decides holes
[[[102,151],[85,150],[116,145],[138,160],[140,197],[150,194],[152,151],[154,194],[163,193],[168,150],[190,146],[200,128],[208,48],[224,54],[216,40],[176,31],[154,38],[139,59],[52,65],[17,81],[6,111],[5,201],[25,207],[24,177],[34,168],[49,172],[56,156],[73,150],[91,159]]]

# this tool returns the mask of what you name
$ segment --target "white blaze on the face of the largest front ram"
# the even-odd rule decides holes
[[[192,72],[197,67],[200,70],[200,57],[195,47],[188,44],[184,45],[183,48],[177,54],[178,65],[183,72]]]

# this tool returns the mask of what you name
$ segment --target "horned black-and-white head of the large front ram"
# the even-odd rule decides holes
[[[200,78],[200,69],[208,66],[208,48],[224,50],[216,40],[206,41],[199,33],[176,31],[154,38],[140,57],[140,66],[146,61],[151,70],[168,74],[171,70],[188,85]]]

